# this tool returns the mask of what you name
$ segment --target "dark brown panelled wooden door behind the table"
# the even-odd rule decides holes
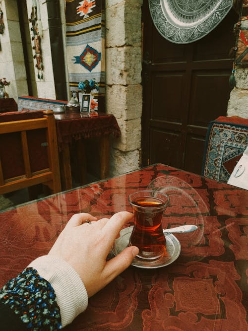
[[[201,173],[209,122],[225,116],[237,14],[186,45],[163,38],[143,1],[142,165],[165,163]]]

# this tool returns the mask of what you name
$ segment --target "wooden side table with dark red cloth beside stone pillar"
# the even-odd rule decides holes
[[[104,113],[56,114],[56,129],[60,150],[62,190],[72,189],[70,143],[75,143],[81,184],[86,184],[87,159],[85,144],[89,138],[100,138],[100,178],[109,176],[110,135],[120,136],[120,128],[114,115]]]

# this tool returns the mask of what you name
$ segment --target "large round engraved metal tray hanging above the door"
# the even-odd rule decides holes
[[[232,0],[149,0],[155,27],[175,44],[188,44],[206,36],[232,4]]]

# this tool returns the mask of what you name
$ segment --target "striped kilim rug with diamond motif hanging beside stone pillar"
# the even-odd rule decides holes
[[[70,90],[79,81],[94,80],[94,110],[104,111],[105,95],[105,1],[66,0],[66,53]]]

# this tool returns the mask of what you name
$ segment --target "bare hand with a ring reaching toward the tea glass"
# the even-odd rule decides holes
[[[111,247],[124,225],[133,217],[121,211],[110,219],[79,213],[73,215],[56,240],[49,255],[62,258],[81,277],[91,297],[126,269],[138,254],[138,248],[130,246],[115,258],[106,261]],[[84,223],[86,220],[91,224]]]

